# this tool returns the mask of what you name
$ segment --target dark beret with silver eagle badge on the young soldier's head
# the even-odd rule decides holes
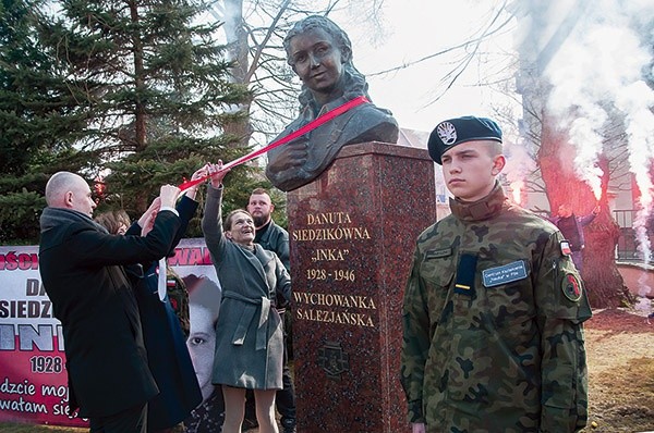
[[[427,147],[429,156],[438,164],[440,157],[450,148],[465,141],[493,140],[501,143],[501,129],[495,121],[467,115],[440,122],[432,134]]]

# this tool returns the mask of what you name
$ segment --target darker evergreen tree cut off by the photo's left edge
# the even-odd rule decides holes
[[[76,171],[74,113],[57,65],[38,38],[43,1],[0,2],[0,243],[38,239],[49,175]]]

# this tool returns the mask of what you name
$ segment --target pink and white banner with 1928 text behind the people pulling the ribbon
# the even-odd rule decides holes
[[[169,264],[219,287],[204,238],[182,239]],[[0,422],[87,425],[69,410],[62,335],[40,282],[38,247],[0,247]]]

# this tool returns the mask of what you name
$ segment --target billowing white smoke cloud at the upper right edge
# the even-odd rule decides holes
[[[556,4],[570,3],[556,0]],[[560,120],[560,126],[570,132],[570,141],[577,147],[578,175],[593,191],[598,190],[602,175],[596,163],[602,152],[602,128],[608,119],[607,103],[613,102],[625,116],[630,171],[641,191],[634,230],[645,261],[651,258],[645,223],[654,197],[650,177],[650,165],[654,163],[654,115],[650,109],[654,107],[654,91],[642,76],[652,60],[654,35],[645,35],[643,28],[652,16],[651,0],[590,2],[545,73],[553,85],[548,108]]]

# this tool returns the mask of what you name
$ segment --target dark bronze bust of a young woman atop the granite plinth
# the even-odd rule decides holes
[[[283,47],[287,62],[302,81],[301,112],[275,140],[356,97],[371,100],[365,77],[352,63],[348,35],[329,18],[313,15],[295,23]],[[281,190],[299,188],[316,178],[343,146],[365,141],[395,144],[398,132],[390,111],[365,102],[270,150],[266,176]]]

